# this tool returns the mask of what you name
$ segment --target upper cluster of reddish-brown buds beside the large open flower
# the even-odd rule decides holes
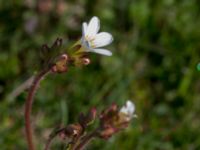
[[[69,66],[82,66],[90,64],[90,59],[86,53],[76,54],[76,50],[72,54],[61,52],[62,40],[56,39],[51,47],[43,45],[42,47],[42,63],[43,69],[50,69],[53,73],[65,73]],[[55,51],[56,49],[56,51]]]

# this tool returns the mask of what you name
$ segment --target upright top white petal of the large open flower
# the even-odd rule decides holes
[[[99,29],[100,29],[99,18],[92,17],[92,19],[90,20],[90,22],[88,24],[86,35],[89,38],[93,38],[97,34],[97,32],[99,31]]]

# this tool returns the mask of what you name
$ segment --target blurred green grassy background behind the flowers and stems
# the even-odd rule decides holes
[[[200,5],[198,0],[0,0],[0,149],[26,150],[24,102],[12,91],[37,71],[42,44],[68,47],[92,16],[113,34],[112,57],[50,75],[33,106],[38,149],[52,128],[127,99],[137,119],[88,150],[200,149]],[[54,142],[53,149],[62,149]]]

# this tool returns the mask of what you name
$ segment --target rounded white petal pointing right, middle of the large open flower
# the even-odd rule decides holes
[[[92,42],[95,47],[103,47],[110,44],[112,41],[113,37],[110,33],[101,32],[95,36],[95,39]]]

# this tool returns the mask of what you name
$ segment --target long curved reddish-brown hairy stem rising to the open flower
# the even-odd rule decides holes
[[[35,92],[39,86],[40,81],[43,79],[45,75],[49,73],[50,70],[43,70],[39,72],[34,80],[33,83],[29,89],[29,93],[26,99],[25,103],[25,132],[26,132],[26,139],[28,143],[28,150],[34,150],[34,144],[33,144],[33,133],[31,128],[31,110],[32,110],[32,104],[35,96]]]

